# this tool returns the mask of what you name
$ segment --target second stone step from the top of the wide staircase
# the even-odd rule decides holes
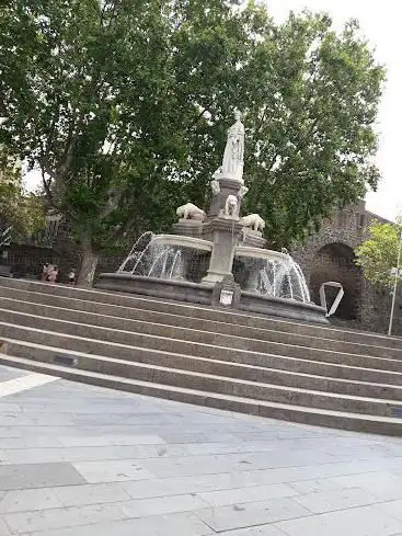
[[[321,350],[402,360],[402,347],[392,349],[334,341],[315,337],[313,333],[309,335],[295,334],[232,323],[215,322],[211,320],[199,320],[195,326],[194,319],[180,317],[177,315],[147,311],[145,309],[129,309],[126,307],[110,306],[89,300],[53,296],[45,293],[33,293],[14,288],[2,288],[0,308],[50,318],[54,317],[80,323],[92,323],[94,326],[123,329],[126,331],[140,331],[142,333],[173,339],[176,338],[214,343],[222,346],[230,346],[231,339],[229,335],[236,335],[250,341],[249,344],[251,344],[252,340],[264,340],[273,343],[285,343]],[[250,347],[250,350],[252,349]],[[271,351],[274,352],[273,350]]]

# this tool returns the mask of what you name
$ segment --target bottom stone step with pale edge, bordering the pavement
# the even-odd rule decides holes
[[[0,354],[0,363],[27,370],[59,376],[74,381],[92,384],[101,387],[125,390],[158,398],[165,398],[210,408],[238,411],[265,418],[353,430],[388,435],[402,435],[402,419],[379,415],[365,415],[334,410],[312,409],[294,404],[254,400],[238,396],[228,396],[199,389],[166,386],[154,381],[140,381],[120,378],[106,374],[78,370],[48,363],[34,362],[21,357]]]

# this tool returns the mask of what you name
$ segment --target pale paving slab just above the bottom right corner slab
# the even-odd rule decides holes
[[[376,495],[361,488],[307,493],[294,497],[294,500],[314,514],[364,506],[365,504],[376,504],[378,502]]]

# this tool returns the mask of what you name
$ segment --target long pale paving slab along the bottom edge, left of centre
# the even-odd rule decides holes
[[[169,514],[28,533],[24,536],[211,536],[215,534],[193,514]]]

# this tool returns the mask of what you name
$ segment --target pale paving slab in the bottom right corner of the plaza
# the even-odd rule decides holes
[[[402,522],[376,505],[275,523],[287,536],[394,536]]]

